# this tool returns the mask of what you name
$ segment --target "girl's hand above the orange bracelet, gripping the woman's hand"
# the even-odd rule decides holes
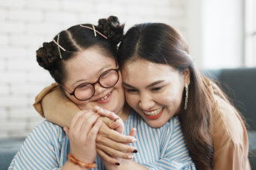
[[[70,138],[71,153],[81,162],[95,161],[95,140],[102,126],[102,121],[98,120],[99,117],[100,115],[95,111],[83,110],[74,116],[69,129],[64,128],[67,137]]]

